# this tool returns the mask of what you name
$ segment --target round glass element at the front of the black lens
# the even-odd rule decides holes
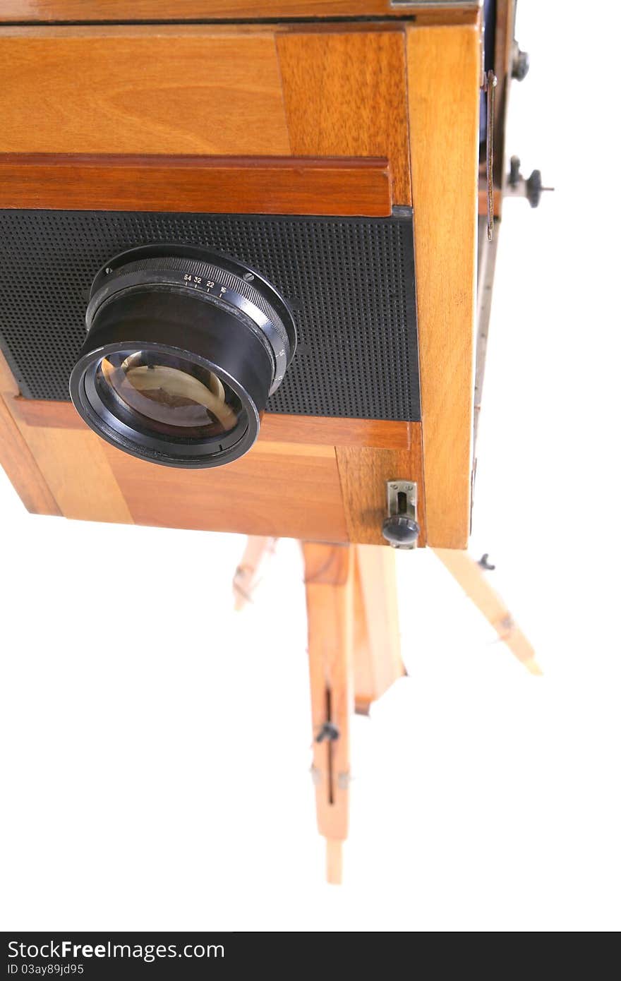
[[[96,387],[122,420],[169,437],[217,438],[246,423],[233,388],[215,372],[172,353],[109,354],[97,367]]]

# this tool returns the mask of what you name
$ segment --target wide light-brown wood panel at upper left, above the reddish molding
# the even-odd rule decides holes
[[[273,33],[0,30],[0,150],[290,154]]]

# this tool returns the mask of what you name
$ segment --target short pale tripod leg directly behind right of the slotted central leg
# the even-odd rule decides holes
[[[401,660],[395,555],[382,545],[353,545],[354,697],[366,715],[372,701],[405,674]]]

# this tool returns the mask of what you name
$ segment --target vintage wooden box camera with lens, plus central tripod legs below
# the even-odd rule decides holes
[[[333,878],[348,707],[402,673],[388,544],[468,540],[512,17],[508,0],[0,12],[2,463],[31,511],[306,542]]]

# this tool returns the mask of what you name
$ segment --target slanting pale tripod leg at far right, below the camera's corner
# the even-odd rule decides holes
[[[434,551],[464,593],[492,624],[499,639],[504,641],[511,653],[532,674],[541,675],[542,670],[535,660],[533,646],[514,623],[504,601],[492,590],[479,563],[465,551],[453,548],[434,548]]]

